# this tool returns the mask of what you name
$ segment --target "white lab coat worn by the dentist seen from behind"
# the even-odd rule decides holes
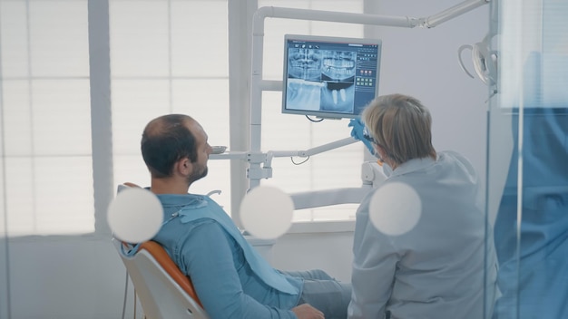
[[[397,236],[369,219],[372,196],[393,182],[416,190],[422,204],[416,227]],[[348,318],[382,319],[387,312],[393,319],[488,317],[495,302],[495,249],[480,198],[475,170],[455,152],[394,169],[357,209]]]

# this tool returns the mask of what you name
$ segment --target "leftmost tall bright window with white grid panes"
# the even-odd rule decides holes
[[[7,234],[93,232],[87,1],[2,1],[0,40]]]

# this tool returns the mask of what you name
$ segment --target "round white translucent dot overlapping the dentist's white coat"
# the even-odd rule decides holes
[[[381,186],[369,203],[371,223],[390,236],[403,235],[416,227],[421,214],[420,197],[416,190],[404,183]]]

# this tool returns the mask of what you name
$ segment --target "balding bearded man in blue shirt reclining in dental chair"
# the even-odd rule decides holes
[[[191,276],[211,319],[347,317],[351,285],[321,270],[272,268],[216,202],[188,193],[207,175],[211,154],[197,121],[181,114],[158,117],[144,129],[141,147],[150,190],[162,202],[164,220],[170,220],[152,240]]]

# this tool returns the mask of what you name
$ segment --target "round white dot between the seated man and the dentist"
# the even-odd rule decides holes
[[[254,237],[276,239],[292,224],[294,203],[288,194],[274,187],[260,186],[240,202],[243,227]]]

